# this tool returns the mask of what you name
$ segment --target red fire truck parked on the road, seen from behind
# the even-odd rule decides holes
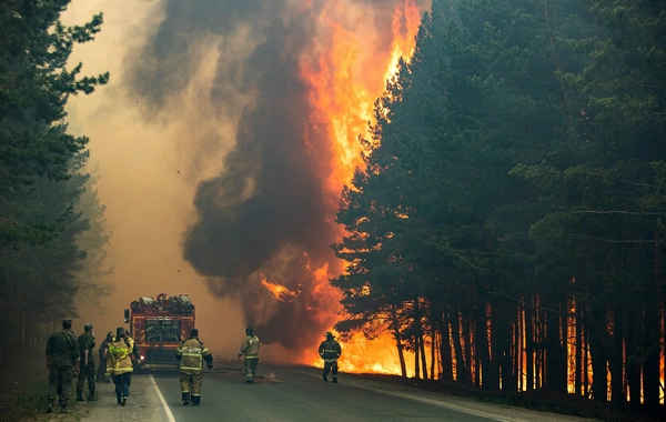
[[[143,363],[176,363],[173,352],[194,328],[194,304],[186,294],[143,297],[130,303],[124,319]]]

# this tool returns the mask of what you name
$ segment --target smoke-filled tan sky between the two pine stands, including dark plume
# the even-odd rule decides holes
[[[117,291],[103,315],[81,315],[98,336],[130,301],[165,292],[190,294],[202,339],[229,355],[245,324],[273,343],[264,356],[299,359],[316,345],[336,320],[326,278],[342,269],[330,249],[341,153],[313,122],[321,110],[303,69],[330,70],[333,96],[349,88],[334,86],[342,71],[354,72],[342,79],[350,87],[380,92],[393,11],[405,2],[72,1],[65,24],[100,11],[104,23],[71,62],[111,72],[108,86],[70,101],[113,231]],[[356,46],[346,68],[330,61],[337,32]],[[262,280],[292,299],[278,301]]]

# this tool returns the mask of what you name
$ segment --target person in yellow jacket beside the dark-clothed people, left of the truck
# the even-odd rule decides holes
[[[113,378],[115,384],[115,399],[118,404],[124,406],[130,395],[130,385],[132,384],[132,354],[137,358],[138,350],[134,348],[134,340],[128,335],[124,328],[119,326],[115,330],[115,336],[109,342],[107,353],[107,373]],[[141,364],[140,356],[137,358]]]

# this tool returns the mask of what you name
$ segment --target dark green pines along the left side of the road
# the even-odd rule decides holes
[[[75,44],[93,40],[102,16],[64,27],[70,0],[0,2],[0,362],[43,355],[74,298],[107,287],[111,234],[85,171],[88,138],[65,123],[67,100],[105,84],[68,66]],[[92,299],[93,300],[93,299]]]

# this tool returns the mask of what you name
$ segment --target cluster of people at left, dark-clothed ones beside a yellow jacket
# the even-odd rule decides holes
[[[125,405],[132,383],[132,355],[141,364],[141,355],[134,346],[129,332],[119,326],[108,333],[100,346],[100,371],[95,378],[94,350],[95,338],[91,323],[83,325],[83,333],[78,338],[72,330],[72,320],[62,320],[62,330],[56,331],[47,342],[47,369],[49,372],[49,404],[47,413],[53,412],[56,398],[59,399],[60,412],[69,413],[69,391],[72,379],[77,376],[77,401],[84,401],[83,386],[88,381],[88,400],[95,400],[95,381],[102,381],[105,374],[111,375],[115,384],[118,404]],[[101,369],[104,368],[104,372]]]

